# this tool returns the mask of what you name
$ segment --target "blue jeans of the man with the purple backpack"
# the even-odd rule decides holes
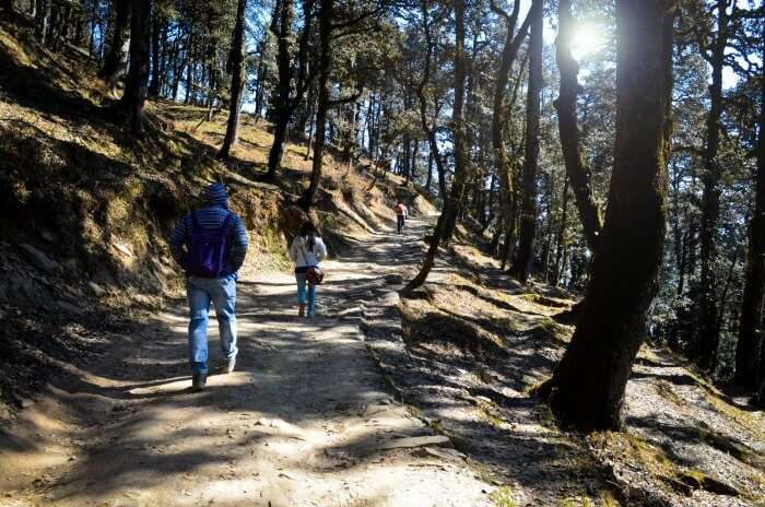
[[[236,275],[220,279],[189,276],[186,281],[189,303],[189,363],[191,372],[208,373],[208,314],[215,305],[221,353],[226,359],[236,357]]]

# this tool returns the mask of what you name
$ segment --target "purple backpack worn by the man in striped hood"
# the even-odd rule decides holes
[[[200,227],[197,212],[191,212],[191,241],[189,244],[188,272],[195,276],[215,279],[221,275],[226,261],[226,244],[231,213],[220,228]]]

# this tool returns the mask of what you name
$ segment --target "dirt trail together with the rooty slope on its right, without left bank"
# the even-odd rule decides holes
[[[400,297],[425,232],[346,237],[315,320],[292,276],[243,272],[237,370],[201,393],[169,300],[3,432],[0,505],[763,505],[761,414],[666,352],[642,351],[625,433],[558,429],[529,392],[575,299],[463,245]]]

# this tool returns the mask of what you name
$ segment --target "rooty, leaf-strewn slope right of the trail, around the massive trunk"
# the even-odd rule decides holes
[[[522,286],[456,243],[401,295],[367,313],[369,349],[399,397],[498,487],[497,505],[765,505],[763,412],[667,350],[640,350],[623,432],[561,429],[533,391],[574,331],[566,291]]]

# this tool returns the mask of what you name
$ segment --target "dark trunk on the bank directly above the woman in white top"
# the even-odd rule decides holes
[[[310,182],[301,198],[301,207],[308,211],[316,200],[321,184],[321,164],[327,135],[327,114],[329,113],[329,76],[332,71],[332,13],[334,0],[320,0],[319,3],[319,83],[318,104],[316,108],[316,142],[314,144],[314,164]]]

